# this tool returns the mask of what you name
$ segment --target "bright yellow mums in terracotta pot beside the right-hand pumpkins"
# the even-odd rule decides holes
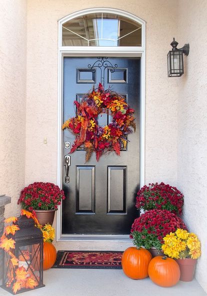
[[[196,234],[178,228],[163,237],[161,248],[165,255],[175,258],[197,259],[200,254],[200,241]]]

